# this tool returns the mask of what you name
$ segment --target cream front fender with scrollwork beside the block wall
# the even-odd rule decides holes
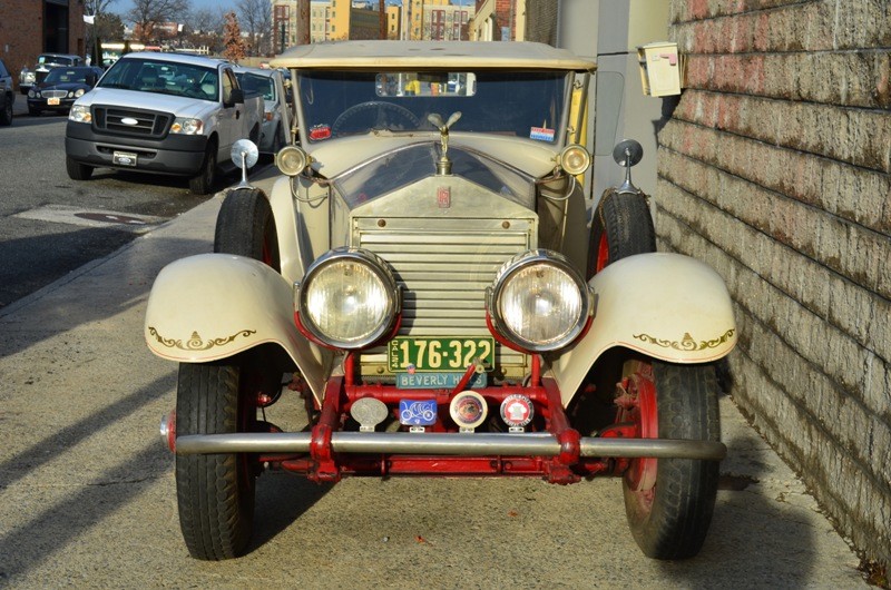
[[[617,260],[588,283],[594,318],[588,333],[551,363],[568,404],[595,361],[624,346],[672,363],[707,363],[736,345],[736,322],[724,281],[678,254]]]

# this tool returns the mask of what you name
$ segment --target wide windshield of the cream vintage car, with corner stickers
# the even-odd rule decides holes
[[[434,130],[428,117],[461,112],[453,131],[557,144],[570,75],[565,71],[298,71],[311,142],[371,130]]]

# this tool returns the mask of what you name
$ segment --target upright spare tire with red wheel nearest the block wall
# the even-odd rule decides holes
[[[646,197],[605,190],[591,222],[588,278],[609,263],[648,252],[656,252],[656,230]]]

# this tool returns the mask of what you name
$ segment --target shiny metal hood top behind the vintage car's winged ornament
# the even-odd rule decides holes
[[[526,208],[532,207],[536,178],[529,174],[483,153],[450,145],[451,174],[437,175],[440,154],[438,141],[408,145],[341,175],[334,180],[334,188],[350,208],[355,208],[430,177],[460,178]]]

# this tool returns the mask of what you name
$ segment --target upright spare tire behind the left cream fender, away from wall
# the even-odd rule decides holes
[[[275,219],[262,190],[239,188],[226,196],[216,218],[214,252],[247,256],[282,271]]]

